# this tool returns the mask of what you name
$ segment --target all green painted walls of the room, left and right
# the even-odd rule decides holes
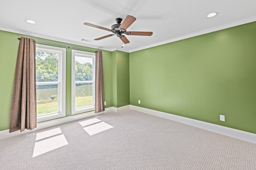
[[[131,104],[256,133],[255,30],[252,22],[132,53],[102,51],[106,107]],[[31,37],[0,31],[0,131],[9,129],[21,36]],[[71,115],[71,49],[66,49],[66,115]]]

